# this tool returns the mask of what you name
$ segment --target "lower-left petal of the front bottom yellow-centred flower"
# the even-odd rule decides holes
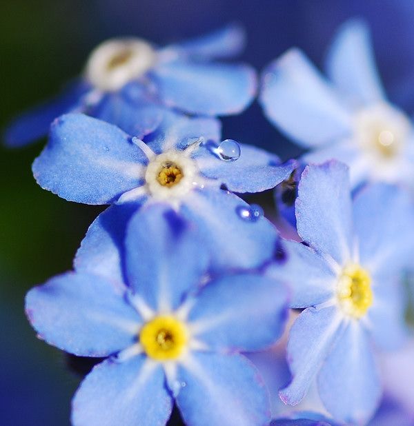
[[[147,358],[103,361],[86,376],[72,400],[74,426],[165,425],[172,398],[161,364]]]

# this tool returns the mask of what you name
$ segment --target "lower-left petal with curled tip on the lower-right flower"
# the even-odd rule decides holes
[[[300,403],[342,334],[342,315],[335,306],[308,307],[298,316],[289,333],[287,359],[293,380],[280,391],[284,403]]]

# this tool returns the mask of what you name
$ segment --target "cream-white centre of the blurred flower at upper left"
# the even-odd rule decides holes
[[[155,56],[155,50],[144,40],[110,39],[90,54],[86,78],[99,90],[119,90],[148,71]]]

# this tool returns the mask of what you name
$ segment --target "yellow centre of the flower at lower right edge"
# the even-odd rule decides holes
[[[359,265],[344,267],[339,277],[337,297],[345,314],[361,318],[373,303],[371,276]]]

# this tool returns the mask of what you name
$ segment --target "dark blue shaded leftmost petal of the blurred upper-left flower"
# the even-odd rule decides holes
[[[77,81],[57,99],[24,112],[6,129],[5,144],[10,148],[19,148],[46,136],[50,124],[59,115],[75,110],[75,108],[83,109],[80,105],[81,97],[88,90],[90,88],[85,83]]]

